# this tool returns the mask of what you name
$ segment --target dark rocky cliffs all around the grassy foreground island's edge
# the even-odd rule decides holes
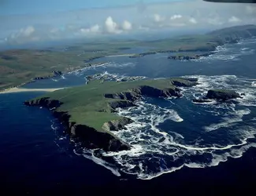
[[[178,79],[174,79],[176,81]],[[172,81],[172,79],[171,79]],[[191,78],[191,82],[188,82],[190,85],[197,83],[196,79]],[[182,83],[179,81],[176,83],[179,86],[189,86],[187,82]],[[135,101],[141,99],[143,96],[150,97],[170,97],[176,96],[181,97],[180,89],[177,87],[170,89],[157,89],[151,86],[142,85],[138,88],[134,88],[127,92],[122,93],[109,93],[104,95],[106,99],[109,100],[110,112],[116,112],[118,107],[127,108],[127,107],[136,107]],[[83,141],[85,147],[88,148],[100,148],[104,151],[128,151],[131,149],[130,144],[125,143],[121,139],[114,136],[113,131],[118,131],[120,129],[125,129],[125,125],[132,123],[132,119],[121,117],[117,120],[105,122],[102,125],[102,131],[98,131],[87,125],[80,125],[76,122],[71,122],[69,111],[59,111],[58,107],[61,107],[63,103],[59,100],[50,100],[49,97],[42,97],[36,100],[28,100],[24,102],[26,106],[37,106],[37,107],[46,107],[55,118],[58,118],[63,125],[65,125],[66,131],[73,137],[77,137]],[[107,111],[99,111],[107,112]]]

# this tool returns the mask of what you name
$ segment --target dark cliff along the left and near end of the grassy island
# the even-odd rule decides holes
[[[110,132],[98,132],[87,125],[77,125],[76,122],[69,122],[70,115],[68,112],[55,110],[55,108],[61,105],[58,100],[50,100],[49,98],[44,97],[38,100],[25,101],[24,104],[27,106],[41,106],[50,109],[54,114],[54,117],[64,123],[67,131],[72,136],[79,137],[86,147],[101,148],[104,151],[127,151],[131,149],[128,143],[124,143],[124,141],[113,136]],[[123,129],[126,123],[131,123],[131,121],[129,119],[121,119],[120,121],[117,120],[106,124],[105,127],[107,129],[107,125],[109,125],[109,130],[113,130],[114,128]]]

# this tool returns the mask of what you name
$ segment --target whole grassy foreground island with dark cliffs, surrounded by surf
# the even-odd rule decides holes
[[[117,115],[118,107],[136,107],[143,96],[181,97],[178,86],[197,85],[196,78],[169,78],[113,82],[91,80],[87,85],[60,89],[25,101],[27,106],[48,108],[71,136],[80,138],[88,148],[127,151],[129,143],[113,132],[124,129],[132,119]]]

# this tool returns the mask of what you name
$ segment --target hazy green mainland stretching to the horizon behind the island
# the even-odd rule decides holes
[[[103,41],[94,42],[90,45],[81,43],[48,49],[2,51],[0,52],[0,90],[39,79],[55,77],[83,67],[95,66],[95,63],[92,62],[95,59],[126,54],[127,49],[138,46],[149,48],[149,51],[147,53],[126,55],[137,58],[155,53],[170,53],[169,59],[171,60],[190,60],[210,55],[218,45],[236,43],[241,39],[254,36],[256,36],[256,26],[243,25],[227,27],[207,34],[186,35],[154,41]],[[172,53],[179,54],[172,55]]]

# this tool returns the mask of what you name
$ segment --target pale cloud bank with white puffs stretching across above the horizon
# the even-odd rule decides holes
[[[154,4],[144,3],[143,0],[136,2],[133,6],[121,8],[0,16],[0,40],[32,42],[161,29],[186,29],[189,33],[190,30],[196,30],[195,27],[200,31],[237,24],[256,24],[256,6],[252,4],[210,3],[202,0]],[[88,18],[90,20],[86,20]]]

